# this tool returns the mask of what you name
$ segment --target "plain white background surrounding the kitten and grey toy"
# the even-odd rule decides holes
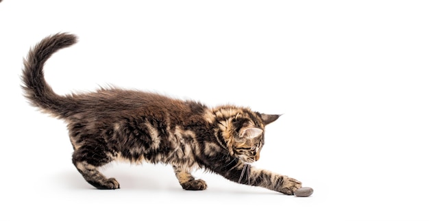
[[[427,1],[0,3],[0,220],[429,220]],[[51,57],[59,94],[109,83],[283,114],[257,162],[312,187],[297,198],[169,166],[114,163],[120,190],[71,164],[64,122],[20,88],[23,57],[50,34],[79,36]]]

